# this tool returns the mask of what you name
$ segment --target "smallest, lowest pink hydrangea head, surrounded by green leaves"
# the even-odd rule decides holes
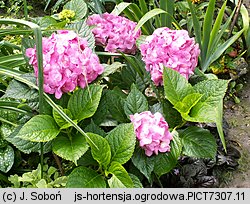
[[[134,125],[136,137],[147,156],[153,153],[170,151],[170,141],[173,139],[168,130],[168,124],[160,113],[150,111],[136,113],[130,116]]]

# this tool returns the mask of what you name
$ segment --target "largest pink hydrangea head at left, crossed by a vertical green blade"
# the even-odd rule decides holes
[[[77,86],[84,88],[104,71],[99,58],[88,47],[87,40],[73,31],[62,30],[43,38],[44,91],[60,99],[63,93],[73,91]],[[28,48],[36,77],[38,65],[36,47]]]

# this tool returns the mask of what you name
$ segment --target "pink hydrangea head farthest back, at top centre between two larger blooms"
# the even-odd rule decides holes
[[[136,51],[136,39],[141,31],[134,32],[136,23],[129,19],[109,13],[94,14],[87,20],[87,24],[95,26],[92,30],[97,45],[105,46],[105,51],[119,50],[127,54]]]

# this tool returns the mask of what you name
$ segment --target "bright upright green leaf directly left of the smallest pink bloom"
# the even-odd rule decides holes
[[[111,161],[126,163],[135,148],[136,136],[133,124],[121,124],[109,132],[106,139],[111,147]]]

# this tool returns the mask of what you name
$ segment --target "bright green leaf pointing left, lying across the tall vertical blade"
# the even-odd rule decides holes
[[[60,130],[49,115],[37,115],[31,118],[19,131],[17,137],[32,142],[48,142],[56,138]]]

